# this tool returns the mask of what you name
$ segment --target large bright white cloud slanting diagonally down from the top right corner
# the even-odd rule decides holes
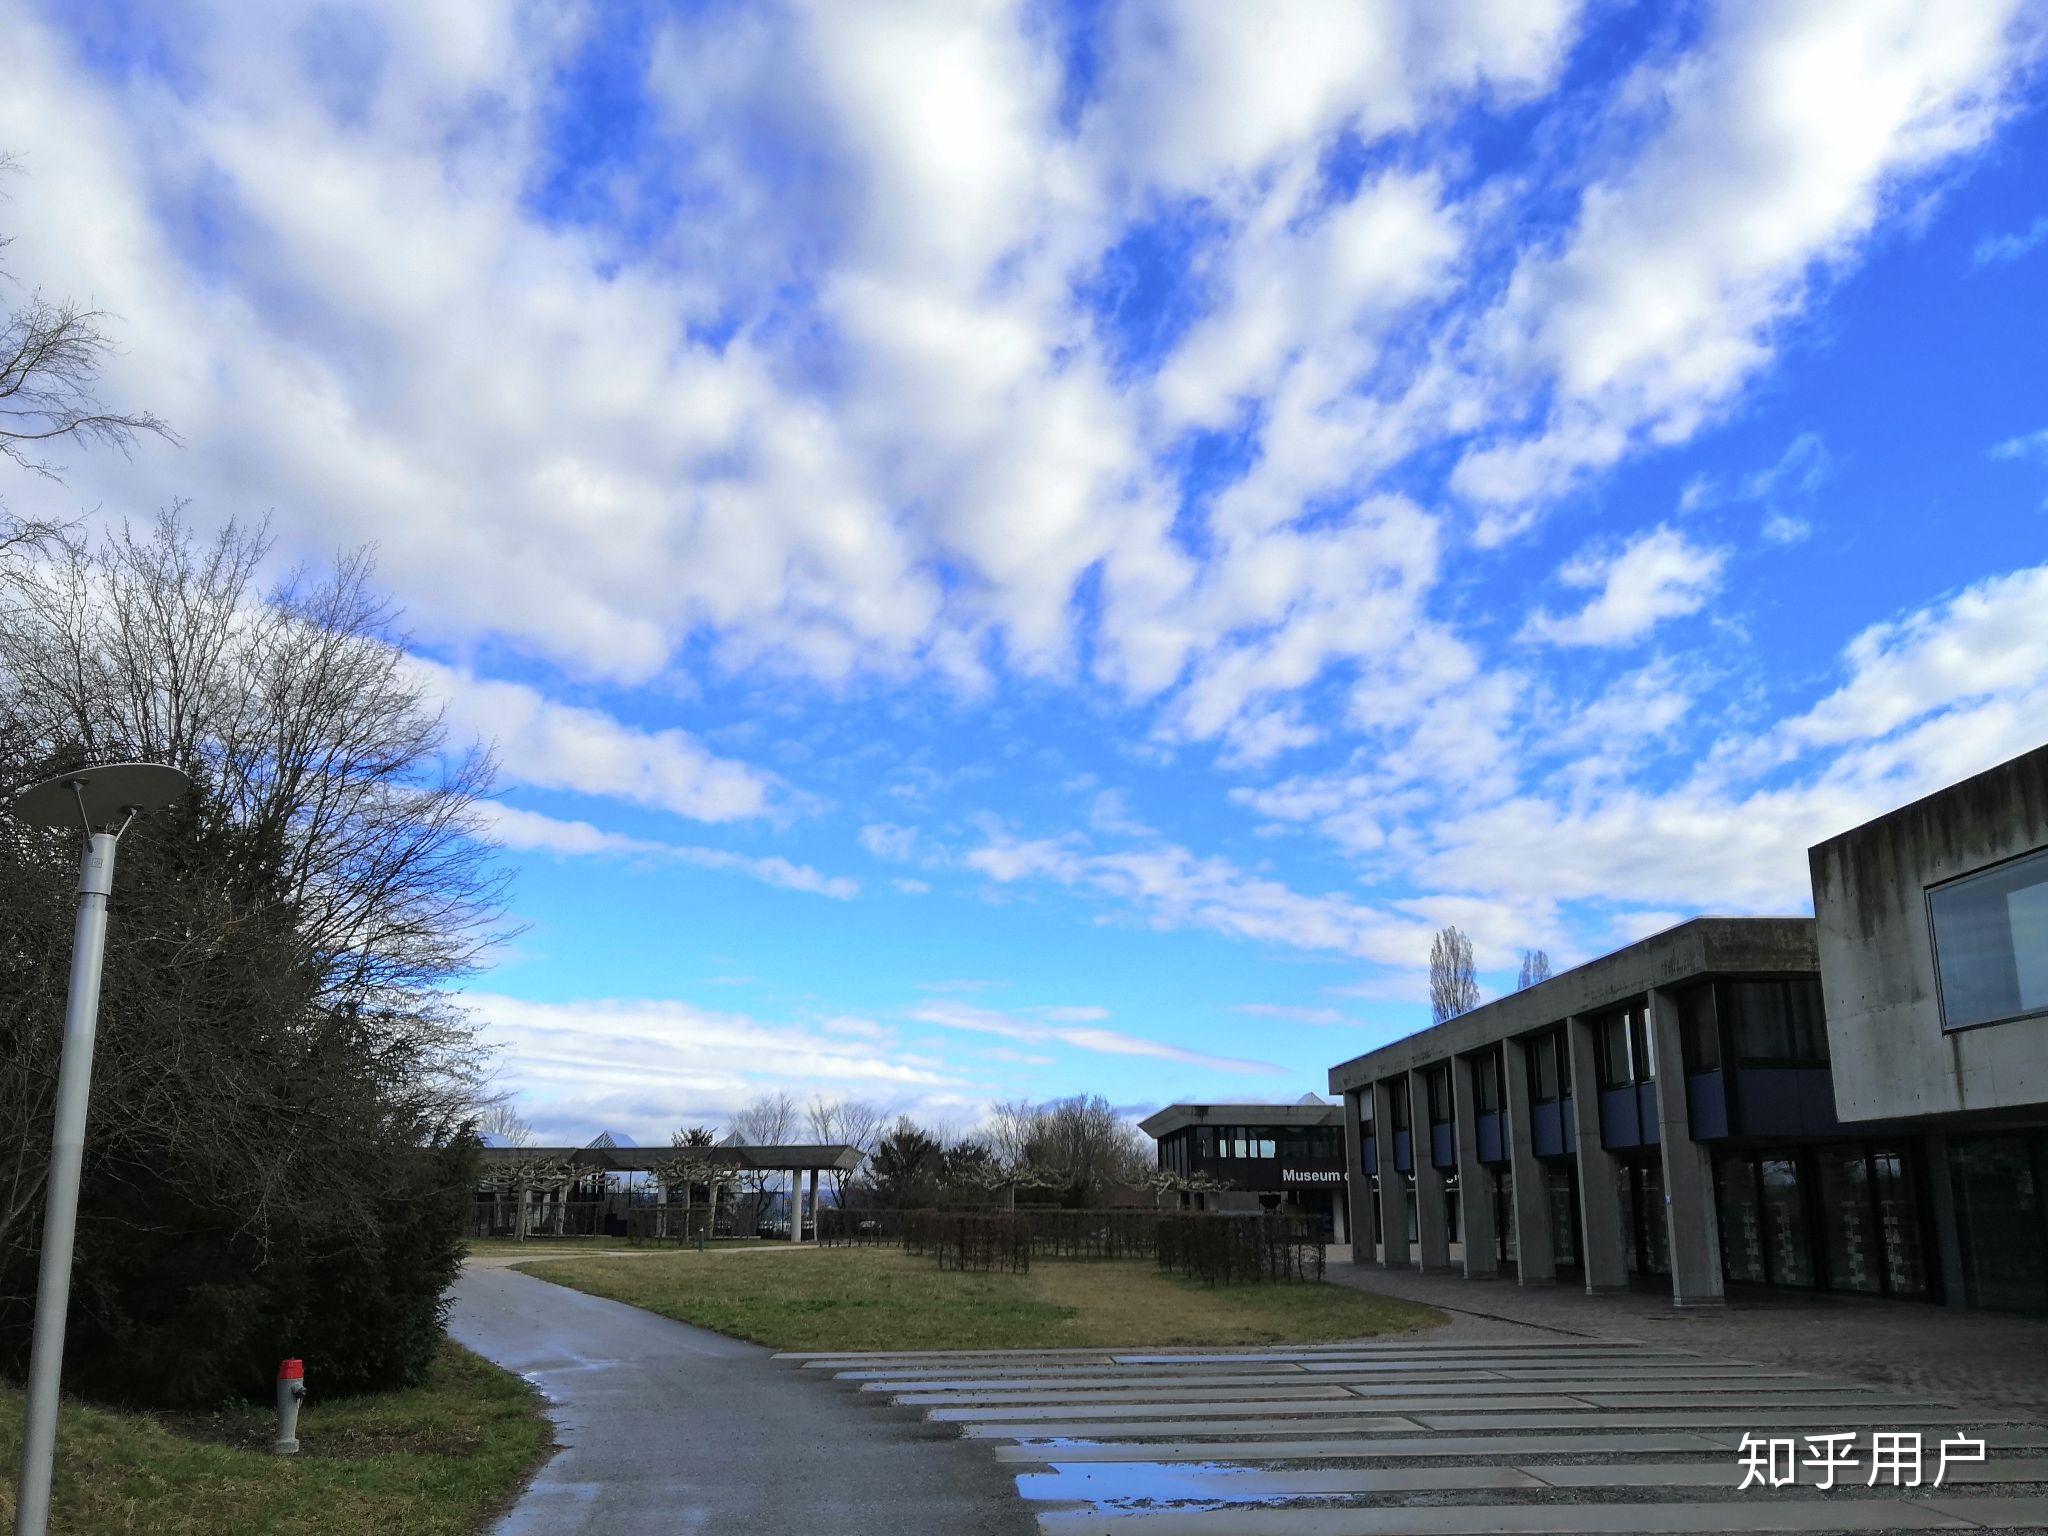
[[[1909,178],[1985,143],[2023,61],[2019,14],[2019,0],[1720,4],[1696,49],[1636,82],[1661,119],[1649,145],[1585,190],[1559,252],[1518,262],[1489,346],[1554,403],[1534,436],[1468,455],[1458,487],[1516,508],[1638,434],[1690,436]]]

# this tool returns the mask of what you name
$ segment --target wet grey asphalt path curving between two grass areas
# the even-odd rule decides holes
[[[985,1448],[760,1346],[492,1268],[463,1272],[449,1331],[535,1382],[563,1446],[498,1536],[1030,1530]]]

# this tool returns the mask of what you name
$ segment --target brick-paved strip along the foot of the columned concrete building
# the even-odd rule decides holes
[[[1788,1290],[1681,1311],[1671,1305],[1669,1288],[1587,1296],[1579,1286],[1520,1286],[1376,1264],[1331,1264],[1329,1278],[1456,1309],[1452,1327],[1460,1337],[1632,1337],[2048,1421],[2048,1319],[2042,1317]]]

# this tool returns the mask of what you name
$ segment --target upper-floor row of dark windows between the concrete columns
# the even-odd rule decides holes
[[[1720,1071],[1733,1057],[1745,1067],[1825,1067],[1827,1018],[1819,977],[1716,979],[1675,993],[1686,1071]],[[1657,1040],[1649,1004],[1634,1001],[1591,1020],[1593,1067],[1602,1087],[1628,1087],[1657,1079]],[[1563,1028],[1524,1040],[1530,1102],[1571,1098],[1571,1047]],[[1470,1059],[1473,1108],[1499,1114],[1507,1100],[1501,1049]],[[1421,1071],[1430,1124],[1452,1120],[1450,1063]],[[1372,1122],[1370,1094],[1360,1098],[1360,1120]],[[1407,1130],[1407,1094],[1395,1092],[1395,1130]]]

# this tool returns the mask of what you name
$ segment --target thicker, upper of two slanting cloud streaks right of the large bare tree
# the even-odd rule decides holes
[[[412,666],[442,700],[451,731],[494,745],[514,784],[651,805],[692,821],[743,821],[772,809],[772,776],[715,756],[688,731],[641,731],[522,682],[422,657]]]

